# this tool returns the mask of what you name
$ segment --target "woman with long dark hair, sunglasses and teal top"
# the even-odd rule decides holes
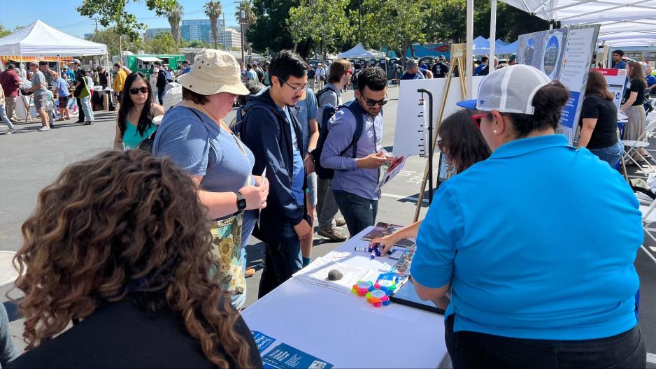
[[[154,102],[150,82],[143,73],[130,73],[124,86],[114,137],[116,150],[137,148],[143,140],[157,131],[157,125],[152,119],[157,115],[164,115],[164,108]]]

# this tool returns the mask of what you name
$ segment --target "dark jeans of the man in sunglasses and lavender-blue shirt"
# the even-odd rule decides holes
[[[335,202],[344,216],[348,233],[353,237],[376,222],[378,200],[369,200],[347,191],[333,190]]]

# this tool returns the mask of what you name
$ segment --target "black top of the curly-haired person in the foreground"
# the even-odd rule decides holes
[[[257,345],[241,317],[236,333],[250,346],[250,361],[262,368]],[[217,347],[224,352],[223,347]],[[232,368],[234,361],[225,356]],[[213,368],[199,340],[187,332],[180,314],[152,314],[129,298],[99,308],[61,335],[46,340],[8,368]]]

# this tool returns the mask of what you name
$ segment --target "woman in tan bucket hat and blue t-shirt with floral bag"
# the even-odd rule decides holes
[[[180,75],[183,101],[164,115],[152,153],[171,157],[199,187],[208,217],[217,219],[212,253],[222,263],[220,282],[234,292],[232,303],[245,301],[245,245],[266,207],[269,182],[252,176],[252,152],[223,122],[234,99],[248,94],[239,64],[227,52],[206,49],[191,71]]]

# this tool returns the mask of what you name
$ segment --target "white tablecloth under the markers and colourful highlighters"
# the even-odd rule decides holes
[[[341,263],[379,268],[388,258],[355,252],[360,238],[334,252],[352,252]],[[311,266],[310,266],[311,267]],[[382,272],[381,272],[382,273]],[[336,368],[437,368],[447,351],[443,317],[392,303],[373,307],[363,297],[293,278],[250,305],[241,315],[252,331],[334,364]]]

